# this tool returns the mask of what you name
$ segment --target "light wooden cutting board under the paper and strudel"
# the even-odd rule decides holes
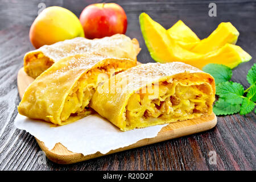
[[[28,76],[24,69],[21,68],[18,72],[17,83],[19,90],[19,97],[22,99],[22,96],[31,82],[34,81],[34,78]],[[146,138],[139,140],[137,143],[131,144],[130,146],[118,148],[116,150],[112,150],[107,154],[101,154],[97,152],[92,155],[82,155],[78,153],[73,153],[69,151],[65,146],[61,143],[57,143],[52,150],[48,150],[48,148],[44,145],[43,142],[36,139],[40,148],[46,152],[46,156],[48,159],[52,160],[55,163],[59,164],[72,164],[81,162],[88,159],[98,158],[100,156],[113,154],[115,152],[120,152],[124,150],[129,150],[131,148],[146,146],[147,144],[162,142],[164,140],[183,137],[185,135],[191,135],[195,133],[199,133],[201,131],[206,131],[212,129],[217,124],[217,117],[213,113],[208,117],[199,118],[199,119],[190,119],[187,121],[170,123],[166,127],[163,127],[162,130],[159,131],[158,135],[155,138]]]

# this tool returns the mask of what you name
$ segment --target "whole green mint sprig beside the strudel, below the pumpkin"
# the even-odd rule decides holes
[[[247,81],[250,87],[246,90],[240,83],[230,81],[232,70],[225,65],[207,64],[203,71],[212,75],[216,82],[216,95],[219,96],[213,106],[216,115],[245,115],[253,111],[256,105],[256,63],[248,71]]]

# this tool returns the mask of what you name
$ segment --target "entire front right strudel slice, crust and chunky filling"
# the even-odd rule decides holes
[[[122,131],[212,113],[214,78],[191,65],[148,63],[98,86],[90,106]]]

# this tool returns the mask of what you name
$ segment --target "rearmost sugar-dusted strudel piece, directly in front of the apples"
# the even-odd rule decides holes
[[[53,63],[78,54],[97,53],[136,61],[140,50],[137,39],[131,40],[123,34],[93,40],[74,38],[27,52],[24,56],[24,71],[28,76],[36,78]]]

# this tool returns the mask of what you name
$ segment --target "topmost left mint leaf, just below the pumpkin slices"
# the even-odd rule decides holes
[[[214,77],[216,85],[224,81],[229,81],[232,77],[232,70],[223,64],[207,64],[204,66],[203,71]]]

